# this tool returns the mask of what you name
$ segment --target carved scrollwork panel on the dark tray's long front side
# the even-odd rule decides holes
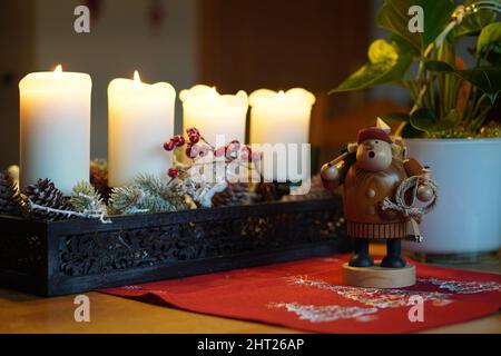
[[[314,210],[62,236],[62,276],[273,250],[344,236],[341,211]],[[334,222],[333,222],[334,221]]]

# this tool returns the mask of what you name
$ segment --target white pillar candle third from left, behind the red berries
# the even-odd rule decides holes
[[[217,135],[224,135],[226,144],[234,139],[245,142],[248,109],[245,91],[240,90],[236,95],[219,95],[215,88],[198,85],[183,90],[179,98],[183,101],[185,131],[195,127],[213,145],[216,144]]]

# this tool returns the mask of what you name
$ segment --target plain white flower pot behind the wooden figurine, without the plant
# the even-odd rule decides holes
[[[407,156],[430,166],[440,195],[421,224],[422,244],[404,248],[429,261],[474,260],[501,246],[501,139],[405,139]]]

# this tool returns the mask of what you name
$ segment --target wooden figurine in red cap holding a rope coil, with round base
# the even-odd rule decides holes
[[[347,234],[355,243],[355,254],[343,266],[344,283],[379,288],[414,285],[415,268],[402,257],[401,240],[422,239],[418,222],[434,207],[438,192],[429,169],[406,159],[401,140],[393,141],[390,127],[377,119],[376,127],[358,131],[357,144],[325,164],[321,176],[328,190],[344,185]],[[429,204],[413,207],[414,198]],[[369,254],[370,239],[386,240],[386,256],[377,264]]]

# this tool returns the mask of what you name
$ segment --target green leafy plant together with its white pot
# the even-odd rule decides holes
[[[410,31],[413,6],[423,10],[422,31]],[[395,134],[440,185],[424,243],[406,244],[426,260],[471,260],[501,246],[500,12],[499,0],[386,0],[376,22],[387,39],[375,40],[369,62],[331,91],[385,83],[409,91],[409,112],[381,117],[402,121]],[[458,55],[466,39],[475,40],[469,68]]]

